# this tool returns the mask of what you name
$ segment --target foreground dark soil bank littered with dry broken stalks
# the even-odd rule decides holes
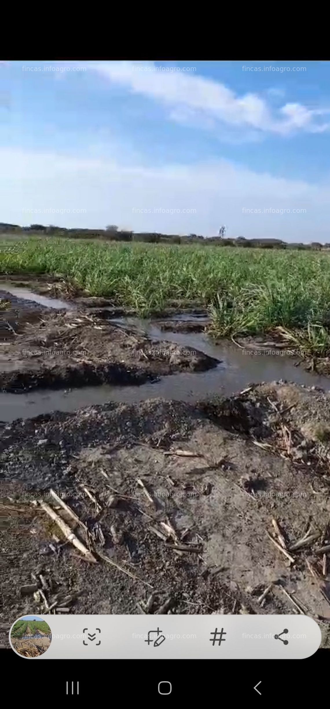
[[[329,553],[328,576],[318,553],[330,544],[329,404],[268,384],[198,406],[109,403],[2,424],[4,622],[45,612],[38,593],[20,598],[31,574],[47,579],[50,605],[80,614],[156,613],[167,602],[163,612],[295,613],[284,588],[329,647]],[[56,506],[50,488],[86,525],[75,533],[97,563],[41,508]],[[316,535],[293,563],[266,535],[277,539],[273,519],[288,549]]]

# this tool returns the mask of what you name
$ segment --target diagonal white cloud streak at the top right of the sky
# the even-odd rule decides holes
[[[133,62],[91,63],[87,68],[112,84],[159,101],[168,108],[169,118],[180,123],[193,122],[203,128],[225,124],[278,135],[297,130],[319,133],[330,128],[329,122],[319,123],[319,116],[329,114],[330,108],[288,103],[274,109],[258,94],[237,96],[224,84],[195,74],[161,72],[152,64]]]

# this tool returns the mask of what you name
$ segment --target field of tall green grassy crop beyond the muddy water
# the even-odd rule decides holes
[[[215,335],[280,326],[329,345],[330,259],[319,252],[31,239],[0,245],[0,273],[61,275],[144,317],[198,301]]]

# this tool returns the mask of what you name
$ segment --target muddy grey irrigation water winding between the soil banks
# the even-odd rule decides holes
[[[73,310],[72,303],[55,298],[47,298],[23,289],[11,283],[0,283],[0,290],[25,301],[34,301],[42,307],[64,308]],[[32,305],[32,303],[31,303]],[[91,312],[91,311],[90,311]],[[164,321],[164,318],[162,319]],[[326,376],[306,372],[297,366],[298,360],[290,355],[254,354],[236,347],[232,342],[223,340],[213,344],[203,332],[179,332],[178,322],[197,325],[207,323],[207,316],[198,313],[195,316],[179,314],[166,318],[166,328],[161,328],[160,321],[140,320],[138,318],[112,318],[111,325],[131,332],[143,333],[152,342],[166,340],[178,345],[198,350],[219,361],[216,367],[205,372],[178,372],[171,376],[160,376],[156,381],[143,384],[102,384],[98,386],[80,386],[77,389],[38,389],[24,393],[0,394],[0,420],[12,421],[16,418],[31,418],[51,411],[74,411],[83,406],[106,403],[106,401],[132,403],[149,398],[163,397],[176,401],[193,402],[215,394],[229,396],[235,391],[246,388],[252,382],[270,382],[283,379],[305,386],[330,388]],[[173,330],[169,329],[173,323]],[[273,350],[275,352],[275,350]],[[2,367],[2,363],[1,363]],[[4,369],[9,371],[11,362],[4,362]]]

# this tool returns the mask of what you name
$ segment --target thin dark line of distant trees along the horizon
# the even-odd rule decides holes
[[[311,242],[285,242],[281,239],[246,239],[244,236],[236,238],[223,238],[221,236],[205,237],[199,234],[161,234],[155,232],[135,233],[119,229],[115,225],[109,225],[105,229],[67,229],[59,226],[45,226],[43,224],[30,224],[30,226],[19,226],[17,224],[0,223],[0,234],[10,235],[45,235],[47,237],[64,237],[70,239],[103,239],[108,241],[122,242],[145,242],[151,244],[202,244],[232,247],[252,247],[264,249],[298,249],[298,250],[323,250],[330,249],[329,244]]]

